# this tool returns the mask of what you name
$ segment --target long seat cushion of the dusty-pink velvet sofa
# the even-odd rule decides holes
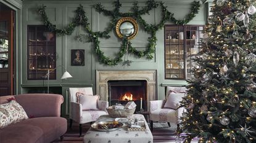
[[[65,118],[30,118],[0,129],[0,142],[52,142],[66,131]]]

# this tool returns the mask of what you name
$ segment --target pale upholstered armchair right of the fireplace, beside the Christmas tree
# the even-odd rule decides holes
[[[171,92],[174,93],[186,93],[185,87],[167,87],[166,97],[169,96]],[[183,94],[182,94],[183,95]],[[183,96],[184,96],[183,95]],[[182,96],[176,99],[176,105],[179,106]],[[181,117],[184,108],[180,107],[178,109],[163,108],[167,99],[149,101],[149,120],[151,124],[151,130],[153,130],[153,122],[167,122],[170,126],[170,123],[175,123],[178,125],[180,123],[179,118]]]

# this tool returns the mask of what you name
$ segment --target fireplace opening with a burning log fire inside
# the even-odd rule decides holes
[[[109,80],[109,104],[125,104],[134,101],[136,111],[147,110],[147,81],[146,80]],[[141,104],[142,102],[142,104]]]

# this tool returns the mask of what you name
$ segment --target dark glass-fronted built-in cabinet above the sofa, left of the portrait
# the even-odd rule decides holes
[[[56,34],[46,26],[28,25],[28,80],[56,79]]]

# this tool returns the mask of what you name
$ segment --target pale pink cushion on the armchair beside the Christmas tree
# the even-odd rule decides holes
[[[165,102],[164,108],[170,108],[170,109],[178,109],[180,106],[180,101],[182,101],[182,98],[184,97],[185,93],[173,93],[171,92],[169,96],[167,97],[167,101]]]

